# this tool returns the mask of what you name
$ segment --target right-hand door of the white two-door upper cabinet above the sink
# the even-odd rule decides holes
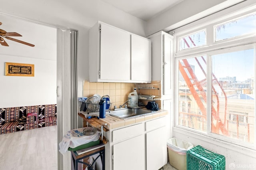
[[[135,35],[131,41],[131,79],[151,81],[151,41]]]

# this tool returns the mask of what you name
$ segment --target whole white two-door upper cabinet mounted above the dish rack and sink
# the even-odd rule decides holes
[[[151,41],[108,24],[90,29],[89,81],[149,83]]]

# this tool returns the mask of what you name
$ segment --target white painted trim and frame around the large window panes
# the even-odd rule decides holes
[[[252,4],[252,2],[254,2]],[[250,5],[249,5],[249,4]],[[248,7],[250,6],[250,7]],[[194,47],[194,48],[190,48],[190,49],[184,49],[182,51],[179,51],[178,50],[178,46],[179,46],[179,43],[176,41],[178,40],[179,37],[181,36],[184,36],[184,35],[187,35],[187,34],[190,34],[192,32],[197,32],[198,30],[202,30],[204,27],[206,27],[206,25],[209,24],[208,27],[208,31],[209,29],[212,28],[212,32],[213,29],[214,29],[214,25],[217,25],[217,24],[220,24],[220,23],[223,23],[225,21],[228,21],[228,20],[231,20],[232,18],[237,18],[239,16],[243,16],[243,15],[246,15],[246,14],[250,14],[252,12],[255,12],[255,9],[256,9],[256,3],[255,1],[251,1],[251,0],[248,0],[247,3],[244,3],[242,4],[242,7],[241,5],[240,6],[232,6],[224,11],[220,11],[216,14],[213,14],[211,16],[208,16],[207,18],[203,18],[202,20],[198,20],[194,23],[191,23],[189,25],[186,25],[184,27],[181,27],[181,28],[178,28],[174,31],[171,31],[170,33],[174,33],[172,34],[174,36],[174,69],[175,69],[175,73],[178,73],[178,59],[182,59],[182,58],[186,58],[191,56],[191,57],[195,57],[195,56],[201,56],[201,55],[205,55],[207,53],[207,62],[209,63],[210,61],[210,53],[209,51],[213,51],[213,52],[216,52],[217,50],[219,51],[220,49],[223,49],[221,50],[221,53],[223,53],[223,51],[229,51],[230,49],[232,49],[233,46],[236,47],[237,49],[237,45],[240,47],[246,45],[248,47],[254,47],[255,49],[255,43],[256,43],[256,35],[255,34],[251,34],[251,35],[248,35],[248,36],[243,36],[242,38],[235,38],[236,39],[236,43],[232,43],[230,44],[230,42],[233,42],[234,40],[233,39],[230,39],[230,40],[223,40],[223,41],[219,41],[219,42],[215,42],[214,44],[210,45],[210,47],[208,45],[202,47]],[[235,12],[234,12],[235,11]],[[214,19],[214,18],[218,18],[218,19]],[[225,20],[223,20],[223,18],[225,18]],[[207,21],[207,22],[206,22]],[[210,21],[210,22],[209,22]],[[190,29],[190,31],[188,32],[187,30],[189,28],[192,28]],[[213,38],[208,38],[207,36],[208,34],[206,33],[206,40],[207,41],[212,41],[214,42]],[[252,44],[253,43],[253,44]],[[216,53],[214,53],[216,54]],[[255,58],[256,58],[256,54],[254,54]],[[256,61],[254,60],[254,64],[256,63]],[[211,68],[210,67],[207,67],[207,70],[208,73],[211,72]],[[254,69],[255,71],[256,69]],[[256,71],[254,73],[254,75],[256,75]],[[175,74],[175,78],[174,78],[174,82],[175,85],[174,85],[174,108],[176,108],[174,110],[174,113],[178,113],[178,74]],[[211,89],[211,76],[207,76],[207,88],[208,89]],[[255,85],[254,85],[254,89],[255,89]],[[211,99],[211,91],[207,91],[207,100],[210,101]],[[255,102],[255,105],[256,105],[256,100],[254,101]],[[208,107],[207,107],[207,114],[210,114],[211,113],[211,103],[208,103]],[[208,116],[208,122],[211,122],[211,116],[207,115]],[[194,138],[200,138],[201,140],[204,140],[206,142],[210,142],[210,143],[214,143],[218,146],[223,146],[225,148],[229,148],[231,150],[234,150],[234,151],[238,151],[238,152],[241,152],[242,154],[248,154],[250,156],[253,155],[254,158],[256,158],[256,142],[254,144],[246,144],[245,142],[234,142],[232,141],[232,138],[228,138],[226,136],[220,136],[218,134],[213,134],[213,133],[210,133],[210,129],[211,129],[211,124],[208,123],[209,127],[208,128],[208,132],[207,134],[204,133],[204,132],[200,132],[198,130],[194,130],[192,128],[188,128],[188,127],[184,127],[184,126],[181,126],[181,125],[178,125],[178,116],[177,115],[174,115],[175,117],[175,124],[174,124],[174,127],[173,127],[173,131],[174,132],[178,132],[178,133],[182,133],[182,134],[186,134],[188,136],[191,136],[191,137],[194,137]],[[256,117],[255,117],[255,123],[256,123]],[[255,124],[255,127],[256,127],[256,124]],[[254,127],[254,128],[255,128]],[[255,131],[255,137],[256,137],[256,130]],[[228,139],[227,139],[228,138]],[[240,148],[238,150],[238,148]]]

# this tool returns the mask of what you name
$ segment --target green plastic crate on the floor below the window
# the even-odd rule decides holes
[[[225,170],[225,156],[198,145],[187,151],[187,170]]]

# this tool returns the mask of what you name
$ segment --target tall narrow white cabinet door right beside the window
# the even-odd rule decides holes
[[[172,38],[163,35],[163,95],[171,94]]]

